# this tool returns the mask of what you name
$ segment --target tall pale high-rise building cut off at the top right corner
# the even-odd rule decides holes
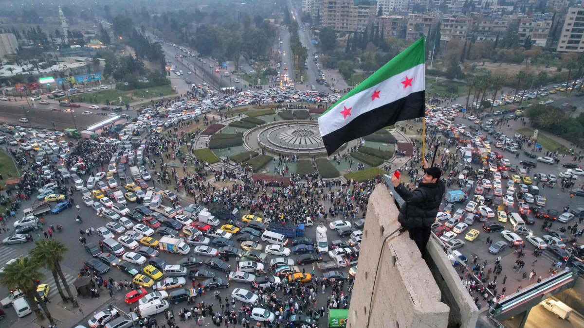
[[[558,51],[584,51],[584,8],[571,7],[559,35]]]

